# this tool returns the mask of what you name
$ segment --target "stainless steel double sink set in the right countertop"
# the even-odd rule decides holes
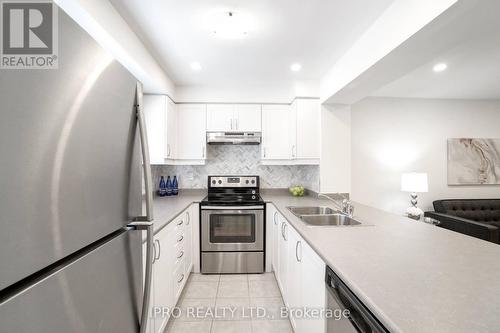
[[[355,226],[362,224],[330,207],[296,206],[287,207],[287,209],[310,226]]]

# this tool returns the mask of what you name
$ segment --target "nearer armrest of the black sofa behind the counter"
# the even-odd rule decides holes
[[[442,228],[484,239],[493,243],[499,243],[499,230],[494,225],[435,212],[426,212],[425,216],[438,220],[440,222],[439,226]]]

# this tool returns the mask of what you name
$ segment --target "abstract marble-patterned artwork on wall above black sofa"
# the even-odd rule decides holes
[[[500,184],[500,139],[448,139],[448,185]]]

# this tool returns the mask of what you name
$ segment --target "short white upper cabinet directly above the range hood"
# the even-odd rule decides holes
[[[208,104],[207,131],[260,132],[261,106],[256,104]]]

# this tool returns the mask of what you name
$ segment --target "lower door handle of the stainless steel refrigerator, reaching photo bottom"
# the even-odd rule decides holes
[[[153,223],[132,222],[127,225],[129,230],[146,231],[146,276],[144,278],[144,295],[142,297],[140,333],[146,333],[149,318],[149,299],[151,295],[151,279],[153,275]]]

